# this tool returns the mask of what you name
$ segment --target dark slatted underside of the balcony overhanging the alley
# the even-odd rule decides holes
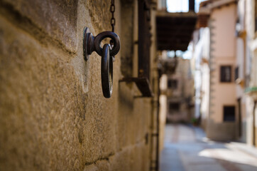
[[[195,30],[197,14],[168,13],[158,11],[156,15],[157,48],[160,51],[186,51]]]

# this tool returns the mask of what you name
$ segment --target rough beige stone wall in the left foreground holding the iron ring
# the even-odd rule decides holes
[[[151,99],[133,98],[136,86],[119,83],[128,52],[121,46],[116,55],[110,99],[101,58],[82,56],[84,26],[94,36],[111,30],[110,2],[0,2],[0,170],[148,170]],[[122,3],[121,44],[130,38]]]

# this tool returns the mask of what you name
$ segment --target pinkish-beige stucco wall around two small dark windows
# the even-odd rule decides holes
[[[212,10],[209,22],[211,52],[207,137],[214,140],[232,140],[236,136],[236,121],[226,122],[223,120],[224,105],[236,106],[236,85],[234,83],[236,64],[235,24],[236,4],[220,6],[220,8]],[[221,66],[231,66],[231,82],[220,82]]]

